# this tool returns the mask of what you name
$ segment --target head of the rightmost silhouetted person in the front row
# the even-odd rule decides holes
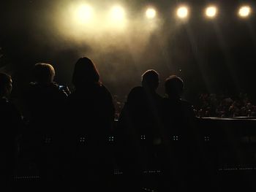
[[[184,89],[184,82],[181,77],[171,75],[165,80],[165,93],[169,98],[180,99]]]

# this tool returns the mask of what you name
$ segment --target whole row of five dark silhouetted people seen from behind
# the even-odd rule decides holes
[[[50,64],[35,64],[33,77],[20,98],[24,117],[8,100],[10,75],[0,74],[0,164],[6,191],[12,190],[17,155],[37,167],[42,191],[59,191],[59,186],[62,191],[141,191],[148,169],[162,172],[154,181],[158,191],[197,188],[197,119],[192,104],[181,99],[180,77],[167,77],[163,98],[157,93],[158,72],[144,72],[141,85],[129,92],[118,123],[113,97],[90,58],[76,62],[71,93],[54,81]],[[115,169],[123,172],[121,181],[114,177]]]

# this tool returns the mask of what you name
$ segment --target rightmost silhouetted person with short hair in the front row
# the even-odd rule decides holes
[[[165,80],[167,98],[162,103],[162,119],[164,129],[162,138],[165,150],[163,174],[165,175],[162,187],[165,190],[188,191],[192,188],[192,179],[195,177],[195,114],[192,105],[181,99],[184,91],[184,82],[180,77],[172,75]],[[195,184],[195,183],[194,183]]]

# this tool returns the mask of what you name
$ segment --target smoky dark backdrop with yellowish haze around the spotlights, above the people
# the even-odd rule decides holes
[[[129,37],[131,33],[121,37],[113,35],[111,38],[119,38],[116,44],[99,40],[97,46],[88,40],[64,37],[61,34],[68,28],[56,30],[56,10],[69,2],[1,1],[0,70],[12,74],[16,90],[31,80],[30,70],[37,62],[53,64],[56,81],[71,87],[75,61],[89,56],[97,64],[102,82],[113,94],[126,95],[132,86],[140,84],[140,75],[146,69],[156,69],[161,77],[161,94],[165,78],[177,74],[184,79],[187,99],[195,99],[200,92],[244,92],[255,98],[254,1],[120,1],[133,14],[129,20],[148,4],[158,9],[162,25],[148,36],[143,50],[136,38]],[[105,1],[86,2],[105,6]],[[178,22],[174,15],[181,3],[191,9],[185,23]],[[208,4],[219,7],[214,20],[203,15]],[[252,7],[252,15],[246,19],[237,16],[238,7],[243,4]],[[104,41],[111,42],[111,38],[106,37]],[[100,47],[101,43],[108,46]],[[141,50],[138,55],[136,49]]]

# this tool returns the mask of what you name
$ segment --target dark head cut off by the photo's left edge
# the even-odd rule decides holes
[[[7,97],[12,92],[12,77],[9,74],[0,73],[0,98]]]

